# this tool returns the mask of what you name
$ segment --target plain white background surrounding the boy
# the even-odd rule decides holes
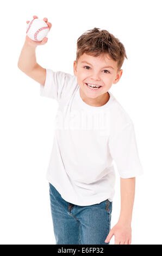
[[[47,17],[52,29],[36,60],[73,74],[76,42],[94,27],[126,48],[121,80],[110,92],[133,120],[144,175],[136,178],[132,244],[161,238],[161,1],[3,1],[1,4],[0,243],[55,244],[46,170],[58,103],[17,68],[27,20]],[[111,227],[120,214],[116,173]],[[106,238],[106,237],[105,237]],[[114,243],[114,238],[110,244]]]

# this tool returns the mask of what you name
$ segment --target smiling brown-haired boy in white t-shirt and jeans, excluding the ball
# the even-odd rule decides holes
[[[41,96],[59,103],[47,171],[56,243],[103,245],[114,235],[116,245],[129,245],[135,176],[143,171],[133,122],[109,92],[123,72],[124,46],[105,30],[84,33],[77,40],[73,76],[36,63],[35,48],[46,42],[26,36],[18,68],[40,83]],[[121,212],[110,230],[113,160],[121,180]]]

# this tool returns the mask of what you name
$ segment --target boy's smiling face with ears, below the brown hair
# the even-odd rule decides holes
[[[110,67],[111,66],[111,67]],[[84,53],[73,63],[74,75],[85,97],[101,99],[107,95],[112,84],[120,80],[123,70],[117,72],[117,62],[111,59],[109,54],[102,54],[98,57]],[[101,86],[98,89],[89,88],[88,84]]]

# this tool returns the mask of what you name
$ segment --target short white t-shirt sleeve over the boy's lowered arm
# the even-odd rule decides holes
[[[115,137],[110,139],[109,149],[121,178],[133,178],[144,173],[139,159],[133,123],[124,126]]]

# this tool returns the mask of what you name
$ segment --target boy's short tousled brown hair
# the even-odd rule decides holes
[[[84,53],[94,57],[109,53],[110,57],[117,61],[118,72],[124,62],[124,57],[127,58],[123,44],[106,30],[99,31],[99,28],[95,27],[87,32],[83,33],[77,40],[76,62]]]

